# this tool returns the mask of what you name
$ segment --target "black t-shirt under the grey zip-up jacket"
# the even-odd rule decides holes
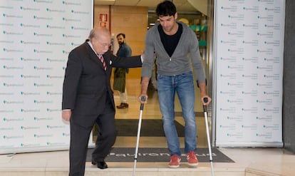
[[[171,57],[172,54],[175,51],[175,48],[176,48],[176,46],[178,44],[178,41],[180,41],[180,36],[182,34],[182,25],[181,24],[178,24],[177,32],[175,34],[171,35],[171,36],[170,35],[167,35],[163,31],[161,25],[157,26],[157,30],[160,33],[160,38],[161,38],[162,44],[163,44],[166,52]]]

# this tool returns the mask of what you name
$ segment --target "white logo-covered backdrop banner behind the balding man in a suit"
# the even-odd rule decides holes
[[[93,1],[6,0],[0,11],[0,153],[68,149],[63,76],[92,29]]]

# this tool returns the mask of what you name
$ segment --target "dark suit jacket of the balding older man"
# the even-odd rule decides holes
[[[103,54],[107,71],[103,63],[87,42],[69,53],[65,78],[63,81],[62,109],[71,109],[79,116],[98,115],[103,113],[105,98],[110,95],[113,108],[113,90],[110,88],[112,67],[141,67],[140,56],[120,58],[110,51]]]

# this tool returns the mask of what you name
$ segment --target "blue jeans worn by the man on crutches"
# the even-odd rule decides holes
[[[177,76],[157,76],[157,92],[162,113],[163,127],[171,155],[181,155],[180,140],[175,128],[175,92],[180,100],[185,120],[185,152],[197,147],[197,125],[195,121],[195,88],[192,72]]]

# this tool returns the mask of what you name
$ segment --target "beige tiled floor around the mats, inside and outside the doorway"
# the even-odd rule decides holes
[[[139,81],[135,81],[139,83]],[[137,87],[137,88],[135,88]],[[139,118],[140,104],[138,86],[128,83],[129,108],[117,110],[115,118]],[[118,95],[115,102],[119,104]],[[200,107],[196,107],[200,111]],[[202,109],[202,108],[201,108]],[[175,103],[175,110],[180,106]],[[161,118],[157,104],[157,92],[149,95],[148,104],[143,110],[143,119]],[[176,118],[180,123],[182,118]],[[207,147],[205,120],[197,117],[197,146]],[[137,127],[135,127],[137,128]],[[180,138],[183,144],[183,138]],[[118,137],[115,147],[135,147],[136,137]],[[165,138],[140,137],[140,147],[167,147]],[[182,146],[183,147],[183,146]],[[219,148],[234,163],[214,162],[215,175],[295,175],[295,155],[281,148]],[[167,161],[168,162],[168,161]],[[210,163],[201,162],[197,168],[182,164],[180,168],[167,168],[167,162],[137,162],[136,175],[211,175]],[[90,162],[86,163],[86,176],[90,175],[131,175],[133,162],[108,162],[107,170],[98,170]],[[53,152],[32,152],[16,155],[0,155],[0,175],[68,175],[68,150]]]

